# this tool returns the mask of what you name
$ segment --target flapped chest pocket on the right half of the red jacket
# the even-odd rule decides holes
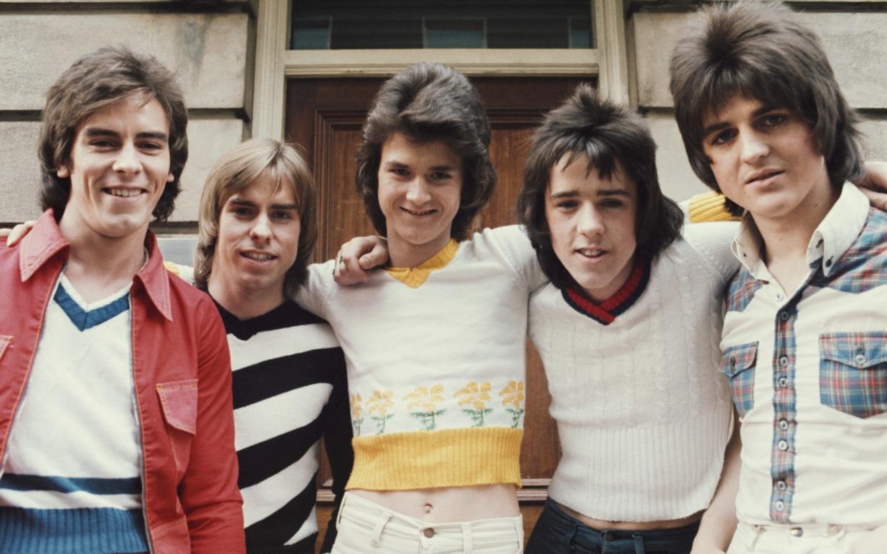
[[[191,459],[191,443],[197,428],[197,379],[158,383],[156,387],[177,477],[181,479]]]

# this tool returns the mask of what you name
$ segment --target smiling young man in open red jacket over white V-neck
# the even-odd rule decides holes
[[[47,94],[46,211],[0,246],[0,550],[244,551],[222,322],[148,231],[186,123],[172,74],[124,49]]]

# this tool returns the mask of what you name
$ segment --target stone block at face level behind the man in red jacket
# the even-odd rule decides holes
[[[0,122],[0,222],[20,222],[40,215],[37,161],[38,121]],[[170,221],[196,222],[200,191],[209,168],[243,137],[243,121],[192,120],[188,124],[189,157],[182,174],[182,192]]]

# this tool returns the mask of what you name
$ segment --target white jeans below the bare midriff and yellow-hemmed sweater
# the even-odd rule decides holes
[[[522,517],[429,524],[345,493],[333,554],[521,554]]]

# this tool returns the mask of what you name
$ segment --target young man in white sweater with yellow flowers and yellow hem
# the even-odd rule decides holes
[[[348,365],[355,465],[335,554],[522,551],[526,307],[542,275],[519,230],[468,239],[496,181],[489,143],[464,75],[420,64],[382,85],[357,185],[394,267],[340,287],[330,261],[299,292]]]

